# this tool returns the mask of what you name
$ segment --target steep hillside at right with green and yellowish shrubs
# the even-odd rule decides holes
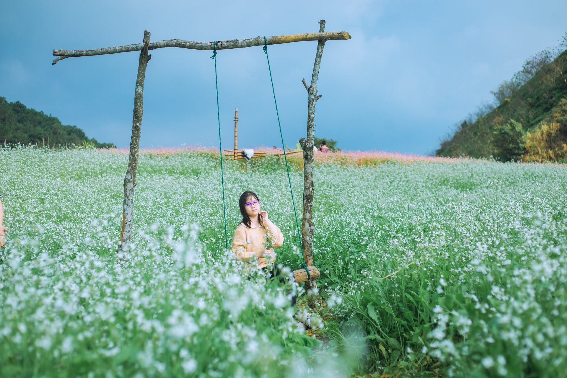
[[[528,59],[513,79],[492,91],[495,104],[463,121],[437,156],[567,159],[567,50],[560,51],[544,50]]]

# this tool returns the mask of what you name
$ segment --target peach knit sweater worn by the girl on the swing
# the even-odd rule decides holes
[[[272,232],[272,247],[267,248],[265,245],[266,227]],[[263,249],[273,249],[273,247],[281,247],[284,244],[284,234],[280,228],[272,223],[271,220],[264,222],[264,227],[246,227],[240,223],[234,231],[232,237],[232,252],[236,253],[236,257],[246,262],[258,261],[259,267],[268,265],[268,261],[264,257],[258,258],[258,252]]]

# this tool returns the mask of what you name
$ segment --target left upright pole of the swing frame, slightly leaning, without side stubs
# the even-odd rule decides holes
[[[150,45],[150,32],[143,32],[143,48],[138,63],[138,76],[136,77],[136,90],[134,91],[134,111],[132,118],[132,139],[130,139],[130,154],[128,168],[124,177],[124,207],[122,210],[122,232],[120,233],[120,248],[124,249],[132,238],[134,220],[134,189],[136,189],[136,172],[138,171],[138,150],[140,145],[140,129],[143,116],[143,82],[146,78],[147,62]]]

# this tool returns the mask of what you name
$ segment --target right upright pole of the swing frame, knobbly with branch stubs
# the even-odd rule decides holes
[[[325,31],[325,20],[319,21],[319,34]],[[315,104],[321,96],[317,95],[317,80],[319,79],[319,67],[321,66],[321,57],[323,57],[323,48],[327,39],[319,40],[317,44],[317,53],[315,54],[315,64],[313,66],[313,74],[311,75],[311,85],[307,87],[305,79],[303,85],[307,90],[307,140],[301,138],[299,144],[303,149],[303,220],[301,222],[301,239],[303,245],[303,256],[307,266],[313,265],[313,233],[315,231],[315,223],[313,222],[313,140],[315,137]],[[316,288],[315,279],[306,281],[305,288],[307,291]],[[310,297],[308,300],[309,307],[313,307],[315,300]]]

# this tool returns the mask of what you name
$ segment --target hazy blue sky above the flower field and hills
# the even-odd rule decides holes
[[[128,146],[138,53],[69,58],[151,40],[212,41],[348,31],[328,41],[319,75],[318,137],[348,150],[428,154],[452,126],[490,100],[531,54],[557,45],[565,1],[3,1],[0,96],[77,125],[100,142]],[[269,47],[286,145],[305,136],[316,42]],[[141,146],[218,145],[210,52],[158,49],[149,63]],[[223,147],[278,145],[261,47],[218,54]]]

